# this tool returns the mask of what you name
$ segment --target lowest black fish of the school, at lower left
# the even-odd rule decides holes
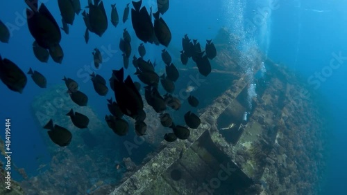
[[[55,124],[53,126],[53,120],[49,120],[49,122],[44,126],[44,129],[49,129],[47,131],[49,138],[58,146],[65,147],[70,144],[72,139],[72,133],[65,129],[64,127]]]

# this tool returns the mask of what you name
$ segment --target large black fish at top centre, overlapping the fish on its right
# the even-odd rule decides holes
[[[136,36],[141,41],[144,41],[144,43],[153,43],[155,33],[152,20],[146,7],[141,8],[141,5],[142,0],[138,2],[133,1],[134,8],[131,9],[131,23],[133,24]]]

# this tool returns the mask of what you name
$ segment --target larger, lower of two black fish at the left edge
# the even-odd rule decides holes
[[[0,79],[8,89],[19,93],[23,92],[27,78],[24,72],[9,59],[0,56]]]

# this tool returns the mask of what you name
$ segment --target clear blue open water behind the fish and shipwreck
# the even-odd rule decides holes
[[[44,0],[56,21],[61,26],[60,11],[56,1]],[[110,18],[110,3],[105,1],[105,10]],[[272,2],[272,6],[269,6]],[[82,7],[86,2],[81,2]],[[117,10],[121,17],[123,8],[128,1],[117,1]],[[144,6],[153,6],[155,1],[144,1]],[[276,6],[274,6],[276,5]],[[347,155],[346,155],[346,111],[347,99],[346,73],[347,73],[347,3],[341,1],[227,1],[227,0],[192,0],[170,1],[170,8],[164,14],[164,19],[173,35],[169,49],[180,50],[183,35],[188,34],[192,39],[198,39],[202,45],[205,39],[212,39],[217,35],[221,26],[226,26],[232,32],[242,37],[242,48],[260,46],[275,62],[282,62],[298,75],[306,78],[307,84],[321,95],[325,107],[332,113],[330,123],[333,124],[331,158],[328,160],[327,178],[323,183],[323,194],[346,194],[347,192]],[[131,8],[132,6],[130,6]],[[74,78],[83,91],[87,91],[90,97],[90,106],[103,116],[108,113],[105,99],[94,93],[92,82],[88,80],[85,66],[94,67],[92,62],[92,50],[98,48],[110,48],[111,53],[105,54],[107,62],[101,64],[99,70],[92,71],[105,78],[110,77],[112,69],[121,68],[123,62],[119,50],[119,39],[122,30],[127,28],[132,36],[132,55],[141,43],[136,38],[130,19],[126,24],[121,21],[114,28],[110,21],[108,30],[103,37],[97,37],[90,32],[90,41],[85,44],[83,38],[85,24],[81,13],[75,18],[74,25],[70,26],[69,35],[62,32],[62,46],[65,57],[62,64],[56,64],[51,59],[49,63],[42,64],[33,55],[33,37],[28,32],[26,19],[23,17],[26,9],[24,1],[1,1],[0,19],[5,24],[12,24],[12,35],[9,44],[0,43],[0,54],[12,62],[15,62],[26,73],[28,68],[40,71],[48,80],[47,87],[62,84],[62,77]],[[265,12],[266,11],[266,12]],[[254,18],[258,14],[264,17],[262,24],[255,24]],[[259,15],[258,15],[259,16]],[[247,23],[248,21],[248,23]],[[255,30],[247,28],[246,24],[253,21]],[[145,44],[146,57],[156,59],[158,68],[163,68],[160,50],[162,46]],[[102,53],[105,50],[101,49]],[[336,55],[346,56],[341,61],[341,66],[332,69],[332,73],[322,73],[323,80],[318,82],[315,73],[328,70],[330,61]],[[179,57],[178,53],[171,53]],[[105,58],[104,58],[105,59]],[[132,74],[135,68],[131,65],[126,73]],[[313,76],[313,77],[312,77]],[[134,77],[135,78],[135,77]],[[311,79],[310,79],[311,78]],[[136,79],[135,79],[136,80]],[[39,131],[45,131],[37,127],[35,115],[31,113],[31,102],[35,95],[44,92],[38,88],[31,77],[22,94],[9,91],[5,85],[0,84],[0,120],[11,119],[11,149],[12,162],[17,167],[23,167],[29,176],[37,174],[37,167],[49,163],[50,156],[46,151]],[[107,97],[110,97],[108,94]],[[102,106],[100,106],[102,104]],[[3,136],[1,129],[1,136]],[[36,160],[37,156],[44,158]],[[15,171],[13,171],[15,173]],[[19,175],[15,175],[19,179]]]

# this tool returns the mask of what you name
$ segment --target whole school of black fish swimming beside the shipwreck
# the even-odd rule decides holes
[[[38,0],[25,0],[28,5],[26,9],[26,16],[28,22],[28,29],[35,39],[33,41],[33,53],[35,57],[42,63],[46,63],[49,57],[54,62],[61,64],[64,58],[64,52],[60,46],[62,39],[60,30],[63,30],[66,34],[69,34],[69,25],[74,24],[75,16],[82,11],[80,0],[58,0],[58,7],[61,13],[62,27],[58,26],[56,19],[51,15],[48,8],[44,6],[44,3],[38,3]],[[187,127],[183,125],[176,125],[172,120],[169,113],[166,113],[168,108],[175,111],[180,109],[181,102],[178,97],[174,97],[171,93],[175,90],[175,82],[179,79],[180,73],[176,66],[172,63],[171,55],[166,48],[171,41],[171,31],[169,26],[163,19],[163,15],[169,10],[169,0],[160,1],[158,3],[158,12],[150,13],[145,6],[142,6],[141,1],[132,1],[133,8],[130,13],[130,3],[124,8],[124,15],[122,17],[123,23],[126,23],[128,18],[131,18],[133,30],[136,37],[144,43],[155,44],[157,46],[164,46],[162,49],[162,61],[165,65],[165,73],[159,76],[155,73],[155,62],[145,60],[146,48],[144,44],[139,44],[137,51],[139,57],[133,56],[133,66],[136,68],[135,75],[144,84],[144,97],[146,102],[153,108],[153,110],[159,113],[160,123],[163,127],[167,127],[172,132],[165,133],[164,140],[167,142],[174,142],[177,139],[185,140],[189,138],[189,129],[197,129],[201,124],[201,120],[195,113],[188,111],[184,115],[185,123]],[[119,24],[119,14],[117,12],[116,4],[111,4],[111,23],[112,26],[117,28]],[[88,10],[88,12],[87,12]],[[152,19],[152,15],[153,18]],[[102,0],[88,0],[88,6],[82,12],[83,21],[85,22],[86,30],[84,32],[85,43],[88,43],[90,39],[89,32],[102,37],[105,30],[108,28],[108,16],[105,13],[105,7]],[[0,41],[8,43],[10,39],[10,32],[5,24],[0,20]],[[130,34],[125,28],[123,30],[123,37],[119,41],[119,49],[123,52],[124,68],[129,66],[129,57],[132,52],[130,45]],[[187,65],[189,58],[196,63],[198,72],[203,76],[208,76],[211,73],[210,59],[217,56],[217,50],[212,43],[212,40],[207,40],[205,50],[201,49],[200,43],[196,40],[189,39],[188,35],[185,35],[182,39],[183,50],[180,52],[180,60],[183,65]],[[98,48],[95,48],[92,52],[95,68],[99,68],[99,65],[103,63],[101,52]],[[110,115],[105,115],[105,122],[108,127],[112,129],[118,136],[125,136],[128,133],[129,125],[124,120],[125,115],[135,120],[135,133],[137,136],[146,135],[147,125],[144,122],[146,113],[144,111],[144,101],[139,91],[141,84],[139,82],[133,82],[133,79],[128,75],[124,79],[124,68],[120,70],[113,70],[109,83],[110,88],[114,91],[115,101],[112,97],[108,101],[108,110]],[[38,71],[29,69],[28,75],[31,75],[33,82],[40,88],[46,88],[46,77]],[[101,96],[108,94],[108,84],[103,76],[92,73],[90,75],[94,90]],[[22,93],[24,90],[27,77],[17,64],[10,59],[2,58],[0,55],[0,79],[8,89],[18,93]],[[78,83],[67,77],[62,78],[67,86],[67,92],[69,93],[71,100],[78,104],[78,106],[86,106],[88,97],[82,91],[78,89]],[[161,95],[158,91],[159,83],[163,89],[167,92],[165,95]],[[198,99],[192,95],[188,97],[187,101],[190,106],[197,107]],[[71,122],[79,129],[85,129],[90,122],[89,118],[83,113],[74,112],[72,109],[67,113],[71,118]],[[56,143],[60,147],[69,145],[72,139],[72,133],[65,127],[60,127],[58,124],[53,125],[53,121],[44,126],[49,138],[52,142]]]

